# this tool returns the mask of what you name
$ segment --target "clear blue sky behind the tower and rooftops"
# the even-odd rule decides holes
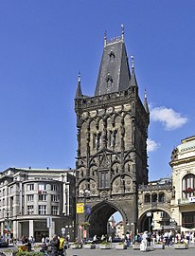
[[[195,1],[1,0],[0,171],[75,168],[74,97],[93,96],[103,50],[125,27],[140,98],[147,90],[150,180],[194,132]]]

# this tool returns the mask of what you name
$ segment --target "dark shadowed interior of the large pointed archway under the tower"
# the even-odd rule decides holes
[[[116,212],[119,211],[113,205],[101,202],[97,204],[91,211],[89,217],[89,237],[101,237],[104,235],[112,235],[115,230],[112,230],[112,227],[108,227],[110,217]],[[115,229],[115,227],[113,227]],[[109,233],[108,233],[109,232]]]

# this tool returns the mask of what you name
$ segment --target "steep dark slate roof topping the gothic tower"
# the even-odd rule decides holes
[[[122,37],[106,42],[95,96],[126,90],[130,86],[130,79],[128,57]]]

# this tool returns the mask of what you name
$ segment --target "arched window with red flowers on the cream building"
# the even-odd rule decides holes
[[[195,175],[186,174],[182,180],[182,197],[188,198],[195,195]]]

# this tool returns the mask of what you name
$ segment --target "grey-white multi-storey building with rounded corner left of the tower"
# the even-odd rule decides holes
[[[9,168],[0,173],[0,233],[37,242],[54,233],[74,236],[73,170]]]

